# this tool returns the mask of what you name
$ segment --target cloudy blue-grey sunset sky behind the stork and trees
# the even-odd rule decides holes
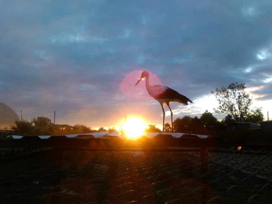
[[[271,120],[271,8],[272,1],[0,0],[0,102],[29,121],[54,122],[56,111],[56,124],[118,127],[138,115],[160,127],[160,104],[144,82],[135,87],[147,70],[152,83],[194,102],[171,103],[173,119],[213,113],[210,92],[242,81],[252,107]]]

